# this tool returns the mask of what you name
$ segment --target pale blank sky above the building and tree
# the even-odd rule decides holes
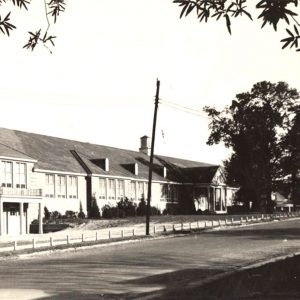
[[[1,15],[10,10],[17,30],[0,36],[0,127],[138,150],[152,134],[157,79],[160,99],[203,116],[262,80],[300,90],[300,54],[281,49],[285,24],[274,32],[241,18],[229,35],[223,20],[179,19],[172,0],[72,0],[50,27],[50,54],[22,48],[28,31],[47,27],[44,1]],[[208,124],[160,103],[155,153],[220,164],[230,150],[206,145]]]

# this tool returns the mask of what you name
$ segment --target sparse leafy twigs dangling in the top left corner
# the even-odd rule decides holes
[[[30,5],[31,0],[0,0],[0,8],[6,3],[12,3],[20,9],[28,10],[28,5]],[[48,26],[46,30],[38,29],[35,32],[29,32],[28,42],[23,48],[33,50],[37,44],[41,43],[51,52],[48,47],[49,43],[54,46],[53,40],[56,37],[48,34],[48,30],[51,25],[48,16],[51,15],[53,22],[56,23],[58,16],[65,10],[66,3],[65,0],[49,0],[48,2],[44,0],[44,3],[45,11],[43,13],[47,19]],[[6,16],[0,14],[0,31],[8,36],[12,30],[16,29],[16,26],[10,21],[10,16],[11,12],[9,12]]]

